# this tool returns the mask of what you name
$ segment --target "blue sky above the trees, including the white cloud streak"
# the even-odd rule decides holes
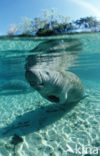
[[[94,16],[100,19],[100,0],[0,0],[0,35],[6,35],[11,24],[22,17],[39,17],[44,9],[55,8],[56,14],[71,19]]]

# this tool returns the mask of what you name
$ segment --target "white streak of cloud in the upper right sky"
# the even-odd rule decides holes
[[[90,4],[89,2],[83,1],[83,0],[72,0],[72,1],[78,5],[81,5],[87,9],[89,9],[92,13],[94,13],[94,16],[100,18],[100,11],[94,5]]]

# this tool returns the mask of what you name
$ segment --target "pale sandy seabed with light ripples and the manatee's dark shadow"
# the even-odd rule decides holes
[[[0,94],[0,156],[100,155],[100,85],[83,81],[87,97],[70,110],[59,109],[36,91]],[[12,143],[14,135],[22,142]],[[81,154],[67,152],[76,146]]]

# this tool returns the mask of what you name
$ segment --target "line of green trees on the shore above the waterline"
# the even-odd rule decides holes
[[[55,9],[43,10],[43,15],[30,19],[23,17],[18,25],[10,25],[8,35],[49,36],[81,31],[100,31],[100,21],[95,17],[82,17],[71,21],[70,17],[56,15]]]

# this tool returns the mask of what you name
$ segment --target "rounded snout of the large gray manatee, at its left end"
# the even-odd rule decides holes
[[[26,70],[26,79],[30,83],[31,87],[39,90],[42,86],[42,78],[40,69],[29,68]]]

